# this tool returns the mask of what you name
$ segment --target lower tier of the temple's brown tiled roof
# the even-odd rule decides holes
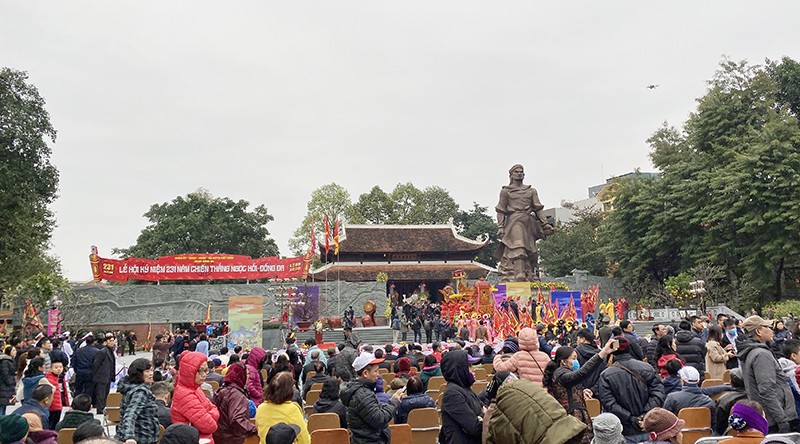
[[[486,265],[472,263],[416,263],[416,262],[392,262],[392,263],[334,263],[311,272],[314,280],[335,281],[342,280],[348,282],[369,282],[374,281],[378,273],[386,273],[390,281],[444,281],[450,280],[453,271],[464,270],[469,279],[478,279],[486,276],[486,273],[496,271]],[[327,273],[326,273],[327,271]]]

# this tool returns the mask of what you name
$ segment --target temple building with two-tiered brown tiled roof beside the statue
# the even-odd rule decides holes
[[[333,249],[320,258],[324,265],[311,272],[310,280],[374,282],[385,274],[387,291],[411,295],[425,284],[433,298],[461,270],[467,279],[486,277],[497,270],[474,259],[485,241],[456,233],[453,225],[348,225]],[[327,262],[327,263],[326,263]]]

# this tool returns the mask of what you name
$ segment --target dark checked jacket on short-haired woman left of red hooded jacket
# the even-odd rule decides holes
[[[120,381],[117,391],[122,393],[122,404],[116,439],[121,442],[133,439],[137,444],[157,443],[158,406],[150,388],[145,384],[131,384],[125,378]]]

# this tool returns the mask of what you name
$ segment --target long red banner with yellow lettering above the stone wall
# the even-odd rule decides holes
[[[125,282],[140,281],[209,281],[302,278],[310,260],[278,256],[252,259],[233,254],[179,254],[156,260],[128,258],[106,259],[93,247],[89,255],[94,279]]]

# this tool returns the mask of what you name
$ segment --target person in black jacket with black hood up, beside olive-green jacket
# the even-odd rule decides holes
[[[442,356],[442,375],[447,386],[442,395],[440,438],[444,444],[480,443],[486,408],[470,388],[475,379],[469,372],[467,352],[455,350],[445,353]]]

